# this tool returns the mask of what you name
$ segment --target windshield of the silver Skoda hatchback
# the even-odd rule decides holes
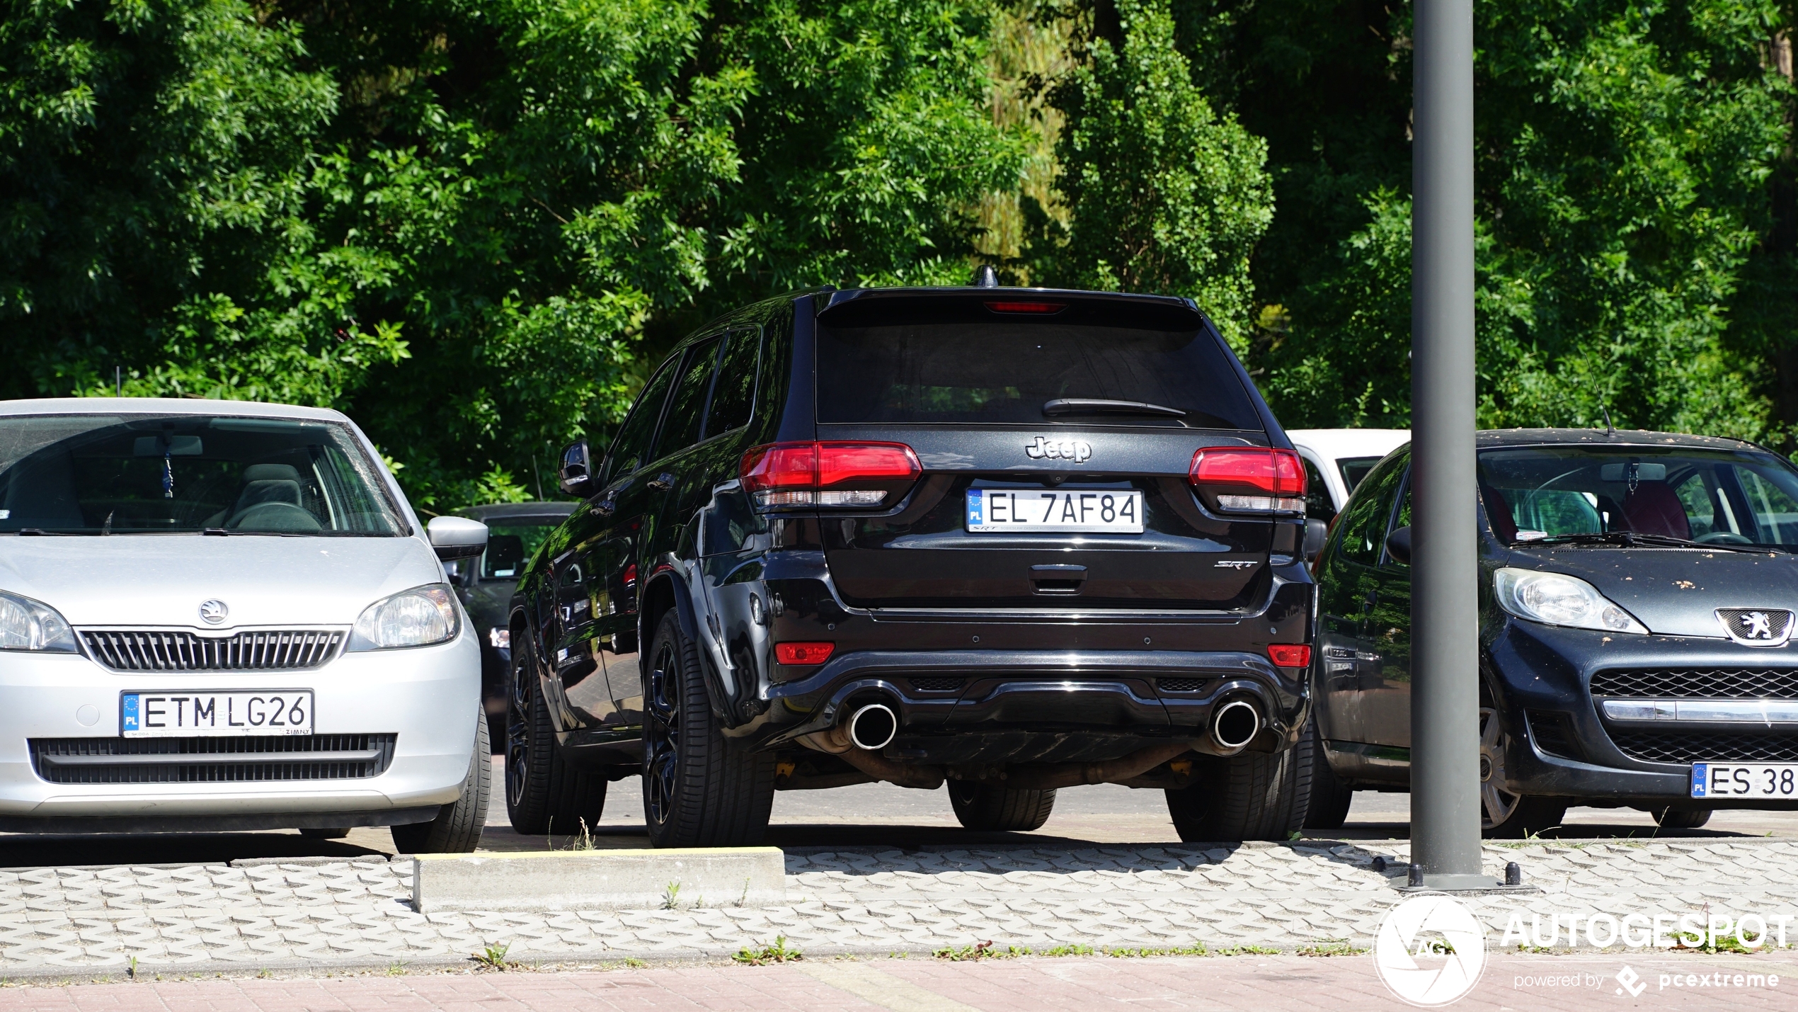
[[[0,417],[0,534],[405,534],[349,428],[227,415]]]

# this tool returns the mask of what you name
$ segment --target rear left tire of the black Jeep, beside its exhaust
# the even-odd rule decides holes
[[[651,847],[748,847],[775,802],[775,757],[723,735],[699,651],[672,611],[644,667],[644,823]]]

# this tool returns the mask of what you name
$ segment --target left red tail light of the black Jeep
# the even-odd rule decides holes
[[[770,442],[743,455],[743,491],[759,507],[877,507],[924,467],[903,442]]]

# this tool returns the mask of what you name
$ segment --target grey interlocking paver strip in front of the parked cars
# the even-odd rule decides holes
[[[1375,857],[1390,866],[1375,870]],[[507,958],[717,958],[784,937],[806,953],[933,951],[991,940],[1050,949],[1366,945],[1402,899],[1404,841],[788,854],[788,904],[642,911],[412,910],[412,861],[0,872],[0,976],[58,969],[430,965]],[[1798,945],[1798,841],[1489,845],[1539,893],[1469,897],[1492,942],[1555,917],[1762,917]],[[1588,938],[1582,944],[1589,944]],[[1509,947],[1516,947],[1516,937]]]

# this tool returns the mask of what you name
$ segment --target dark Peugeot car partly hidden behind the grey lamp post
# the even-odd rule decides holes
[[[1401,448],[1318,561],[1314,827],[1410,784],[1408,478]],[[1510,430],[1478,435],[1478,480],[1487,832],[1798,809],[1798,471],[1728,439]]]

